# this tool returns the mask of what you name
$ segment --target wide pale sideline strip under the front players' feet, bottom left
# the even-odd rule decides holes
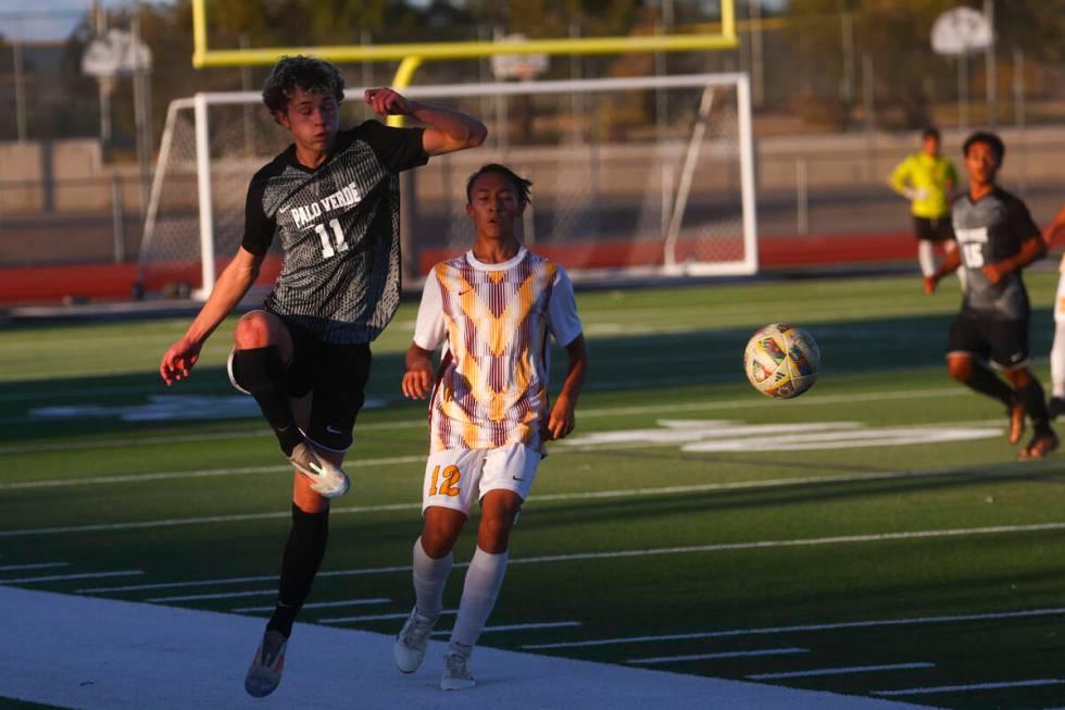
[[[478,648],[477,689],[436,688],[447,646],[429,643],[413,675],[394,672],[392,637],[297,624],[285,680],[266,700],[242,678],[262,620],[178,607],[0,588],[0,687],[18,700],[84,710],[300,708],[363,710],[887,710],[898,700],[861,698],[644,668]]]

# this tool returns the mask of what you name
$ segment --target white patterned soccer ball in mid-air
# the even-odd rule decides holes
[[[798,397],[817,382],[820,350],[802,328],[770,323],[755,333],[743,351],[743,372],[763,395]]]

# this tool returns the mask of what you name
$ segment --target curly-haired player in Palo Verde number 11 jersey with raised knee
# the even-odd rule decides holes
[[[374,112],[426,128],[366,121],[340,130],[342,99],[343,78],[328,62],[286,57],[274,66],[263,103],[292,145],[251,178],[241,247],[159,369],[167,385],[188,377],[279,240],[281,273],[262,310],[237,323],[228,361],[234,386],[255,398],[296,469],[277,606],[245,681],[256,697],[280,682],[292,623],[325,555],[329,499],[348,490],[339,466],[363,403],[369,342],[399,304],[398,173],[487,135],[476,119],[388,88],[366,91]]]

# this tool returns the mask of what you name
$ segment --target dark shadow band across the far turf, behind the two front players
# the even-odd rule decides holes
[[[773,314],[767,314],[772,317]],[[929,368],[942,363],[947,333],[953,315],[891,317],[877,321],[802,323],[822,350],[822,376],[868,371],[898,371]],[[1035,311],[1031,352],[1038,358],[1049,351],[1053,336],[1048,309]],[[1039,327],[1043,323],[1047,327]],[[753,328],[724,328],[634,336],[594,337],[589,340],[591,369],[586,391],[649,390],[690,388],[744,382],[740,360]],[[552,383],[557,388],[564,377],[566,359],[555,348]],[[388,411],[406,416],[424,411],[424,402],[410,402],[400,395],[403,354],[374,357],[367,397],[387,402]],[[944,373],[943,383],[950,381]],[[82,416],[30,420],[27,414],[43,406],[138,404],[150,397],[173,395],[231,396],[223,366],[196,369],[188,381],[167,388],[155,372],[120,375],[48,378],[5,383],[0,393],[0,441],[55,439],[71,436],[190,428],[225,431],[233,420],[122,421],[117,416]],[[579,415],[579,411],[578,411]],[[387,416],[387,415],[386,415]],[[41,424],[47,423],[47,427]]]

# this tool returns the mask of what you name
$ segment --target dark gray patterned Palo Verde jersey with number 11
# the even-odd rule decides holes
[[[399,178],[424,165],[422,129],[376,121],[343,130],[310,170],[290,146],[252,177],[242,246],[265,254],[275,235],[281,273],[265,309],[326,342],[369,342],[399,306]]]

